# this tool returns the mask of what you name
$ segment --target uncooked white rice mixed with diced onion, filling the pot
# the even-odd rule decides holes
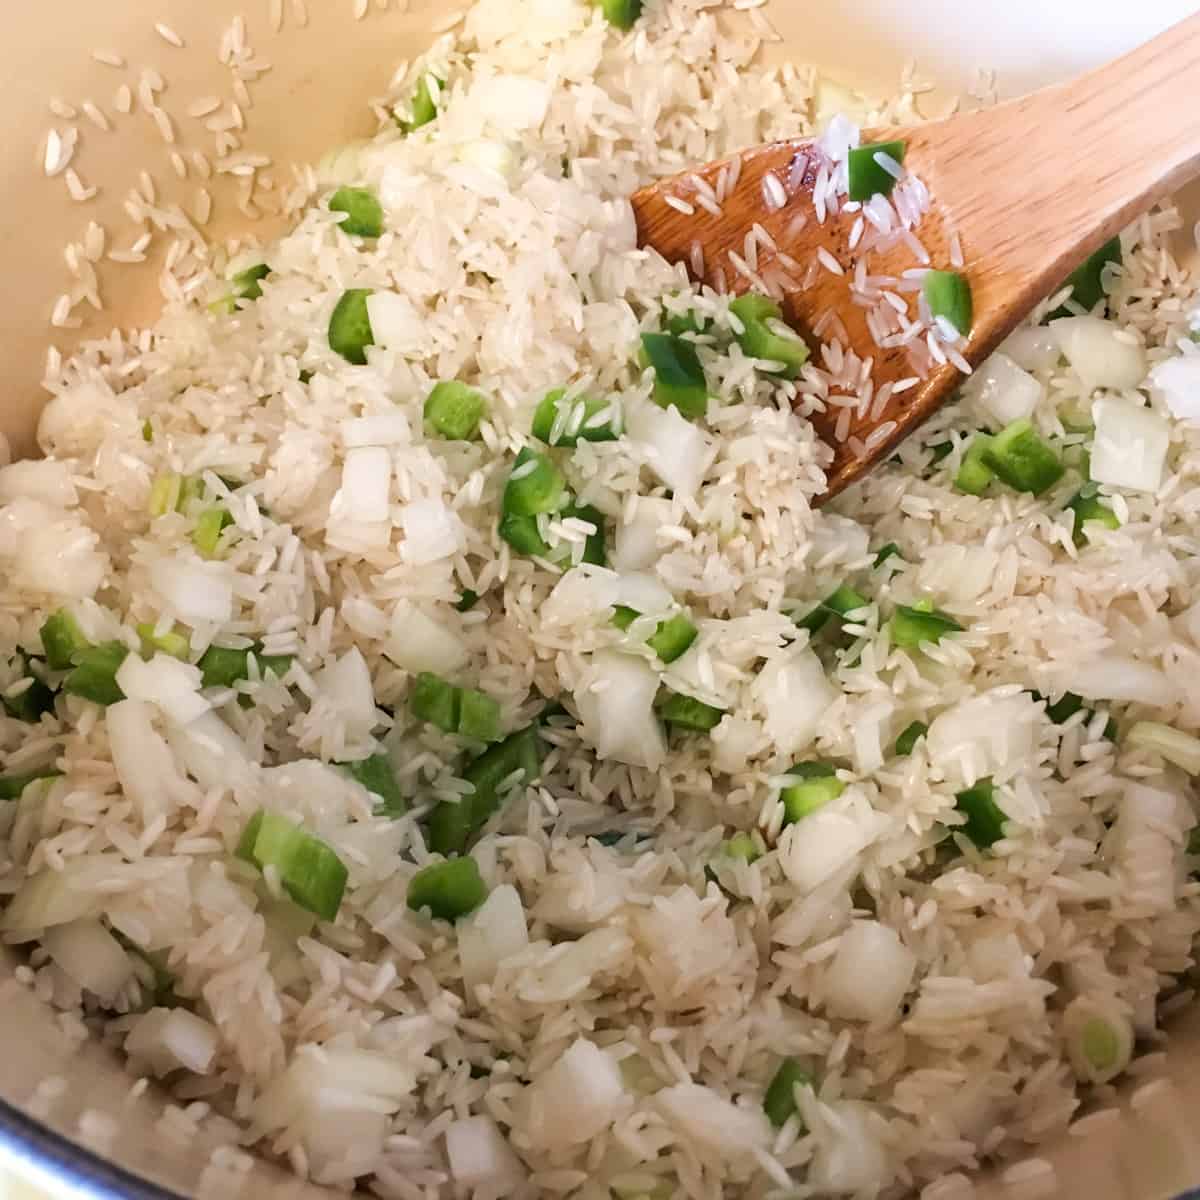
[[[354,12],[368,7],[359,0]],[[0,469],[0,695],[12,704],[34,694],[18,648],[37,658],[42,623],[60,607],[95,642],[134,649],[182,630],[192,660],[256,642],[295,659],[280,678],[252,656],[245,679],[198,691],[198,672],[158,655],[156,685],[122,668],[130,689],[149,689],[137,698],[103,709],[64,695],[36,731],[0,718],[6,773],[61,773],[0,808],[0,893],[17,896],[0,928],[37,947],[20,978],[64,1009],[65,1036],[83,1036],[85,1015],[126,1046],[139,1076],[175,1069],[164,1136],[184,1142],[200,1123],[235,1117],[247,1144],[301,1174],[364,1181],[385,1198],[451,1194],[460,1139],[497,1156],[484,1181],[493,1194],[707,1200],[794,1181],[805,1195],[918,1187],[946,1200],[980,1158],[1016,1159],[1006,1181],[1039,1184],[1049,1164],[1030,1145],[1080,1132],[1087,1086],[1129,1067],[1135,1039],[1153,1045],[1162,1009],[1186,991],[1175,980],[1200,930],[1187,781],[1124,743],[1139,720],[1186,734],[1200,725],[1189,551],[1200,439],[1145,382],[1177,359],[1196,308],[1168,244],[1174,211],[1127,232],[1123,269],[1106,281],[1102,328],[1142,371],[1103,398],[1141,406],[1166,430],[1160,487],[1103,487],[1120,528],[1092,524],[1075,545],[1064,505],[1078,474],[1040,498],[953,487],[971,437],[997,427],[986,379],[817,512],[828,449],[800,413],[839,409],[835,436],[865,451],[894,422],[864,440],[851,432],[856,415],[882,416],[920,372],[876,389],[871,360],[830,311],[814,330],[816,360],[796,380],[770,377],[727,344],[745,330],[722,268],[706,277],[697,240],[701,287],[638,250],[625,202],[685,162],[739,149],[730,137],[810,130],[810,74],[739,68],[744,46],[701,0],[664,4],[628,40],[583,7],[560,30],[533,31],[526,7],[486,0],[455,14],[461,34],[409,67],[391,97],[407,102],[437,70],[448,80],[438,124],[403,138],[388,121],[370,146],[326,160],[319,188],[300,185],[311,203],[295,228],[264,257],[208,257],[182,212],[156,208],[149,175],[130,197],[134,220],[170,234],[172,299],[154,330],[48,358],[49,462]],[[272,13],[281,25],[282,5]],[[305,19],[299,0],[292,19]],[[221,54],[246,54],[240,23]],[[563,62],[606,95],[602,118],[562,84]],[[521,106],[511,92],[508,107],[488,97],[509,84],[524,89]],[[143,106],[170,142],[161,90],[143,76]],[[737,133],[701,128],[690,119],[698,103],[728,114]],[[911,95],[856,116],[887,124],[905,104]],[[188,114],[220,107],[197,102]],[[517,109],[520,162],[494,144],[512,134]],[[650,110],[656,128],[640,115]],[[232,112],[218,139],[240,128]],[[854,144],[850,122],[842,133]],[[70,168],[70,133],[52,137],[46,173],[64,172],[72,194],[89,191]],[[461,150],[481,144],[486,168]],[[564,144],[578,163],[568,178]],[[235,142],[217,148],[218,170],[252,188],[265,160]],[[211,173],[198,151],[191,162]],[[733,158],[719,192],[691,175],[695,206],[719,214],[740,169]],[[782,185],[764,179],[774,202],[769,180]],[[324,200],[341,184],[378,193],[384,238],[352,240],[329,220]],[[845,194],[844,164],[823,161],[817,220]],[[924,186],[905,176],[894,203],[876,200],[846,205],[862,251],[847,284],[888,335],[877,340],[910,346],[922,366],[944,355],[966,371],[956,338],[911,304],[924,270],[883,280],[866,262],[887,236],[930,262],[916,232]],[[211,197],[202,190],[190,208],[203,224]],[[788,216],[797,229],[804,220]],[[107,241],[92,224],[72,247],[79,290],[55,302],[55,325],[78,323]],[[802,287],[822,265],[846,274],[826,251],[800,263],[774,241],[756,227],[744,256],[727,256],[733,271],[762,290],[779,289],[775,259]],[[136,260],[150,244],[143,233],[107,258]],[[949,256],[961,264],[956,238]],[[227,281],[257,262],[270,264],[262,295],[230,312]],[[328,342],[347,287],[390,306],[372,310],[378,344],[362,366]],[[664,428],[631,349],[664,311],[689,308],[703,318],[696,352],[714,400],[704,418]],[[1064,456],[1078,451],[1086,438],[1072,430],[1096,389],[1082,364],[1031,356],[1021,336],[1006,352],[1032,379],[1028,415]],[[487,400],[480,440],[424,428],[432,384],[452,378]],[[580,502],[604,517],[619,574],[580,565],[592,515],[536,517],[570,562],[521,557],[497,536],[503,488],[523,481],[514,454],[559,386],[551,440],[622,414],[619,440],[556,451]],[[588,418],[589,396],[613,403]],[[151,517],[155,481],[185,475],[203,478],[208,498]],[[204,558],[194,527],[217,505],[232,524]],[[889,544],[899,556],[877,568]],[[793,614],[847,583],[862,604],[811,644],[797,636]],[[695,623],[695,646],[659,662],[644,644],[659,614],[613,626],[618,586],[665,590]],[[481,599],[460,612],[467,590]],[[961,631],[898,646],[898,607],[922,600]],[[414,673],[438,653],[437,670],[499,702],[505,730],[536,721],[542,697],[565,706],[542,726],[538,785],[506,772],[500,815],[473,848],[493,896],[516,895],[528,936],[470,983],[470,925],[406,906],[431,859],[428,814],[469,798],[463,751],[479,749],[409,709]],[[644,720],[631,725],[646,679]],[[659,684],[725,715],[665,749],[648,712]],[[1031,689],[1078,689],[1087,703],[1056,724]],[[896,754],[913,721],[928,732]],[[649,743],[623,740],[630,728]],[[403,815],[376,815],[365,788],[329,766],[376,752],[408,802]],[[787,823],[781,791],[798,758],[835,767],[845,790]],[[964,835],[956,800],[983,776],[1009,818],[990,852]],[[302,821],[348,868],[336,923],[286,901],[274,865],[259,876],[232,854],[264,804]],[[762,839],[755,862],[722,853],[736,830]],[[74,872],[86,880],[78,892],[66,882]],[[61,923],[92,940],[104,928],[121,935],[124,948],[104,943],[125,972],[110,995],[72,978],[80,961],[43,928],[44,906],[32,908],[43,920],[13,916],[29,907],[30,880],[58,886]],[[902,966],[882,1009],[878,956],[854,950],[864,937]],[[151,1008],[162,971],[187,1007]],[[1120,1043],[1103,1069],[1080,1058],[1076,1038],[1096,1013]],[[184,1043],[155,1032],[172,1014],[194,1022]],[[169,1045],[198,1055],[190,1069],[162,1057]],[[782,1057],[812,1086],[796,1090],[798,1111],[776,1130],[762,1100]],[[145,1087],[139,1078],[131,1094]],[[1142,1085],[1139,1103],[1156,1087]],[[330,1088],[337,1098],[324,1106]],[[85,1123],[94,1140],[109,1136],[106,1121]],[[239,1156],[230,1147],[214,1163],[245,1170]]]

